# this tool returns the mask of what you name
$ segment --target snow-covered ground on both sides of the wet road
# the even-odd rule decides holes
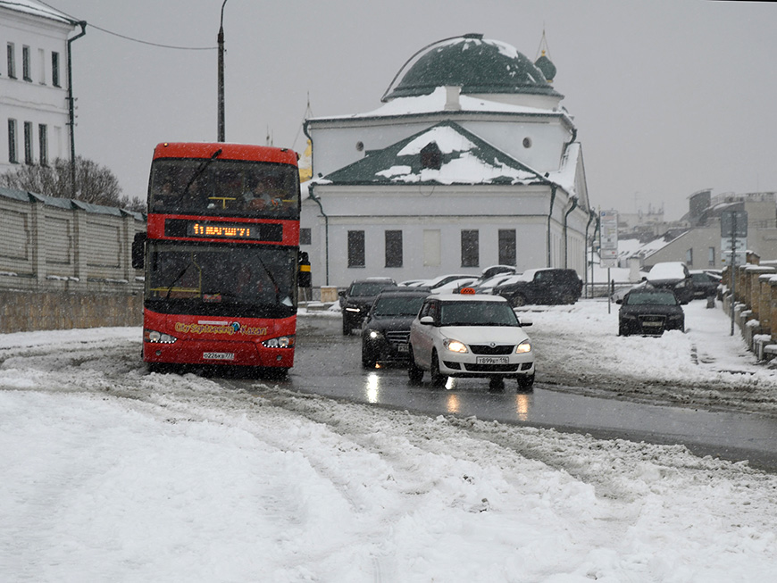
[[[773,370],[686,312],[619,338],[606,302],[532,311],[540,370],[773,414]],[[0,336],[0,580],[775,580],[777,476],[746,462],[149,375],[139,337]]]

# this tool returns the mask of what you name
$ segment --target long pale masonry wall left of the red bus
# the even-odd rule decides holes
[[[0,332],[135,326],[142,214],[0,188]]]

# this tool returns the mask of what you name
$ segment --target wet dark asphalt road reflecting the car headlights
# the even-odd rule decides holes
[[[431,387],[428,375],[411,385],[405,368],[364,370],[357,331],[344,337],[339,318],[306,316],[298,321],[295,366],[288,381],[293,390],[355,403],[430,415],[477,417],[483,421],[555,428],[601,438],[656,444],[682,444],[700,455],[777,471],[777,420],[739,412],[636,404],[575,395],[535,383],[532,393],[518,392],[514,381],[505,391],[489,392],[488,379],[451,379],[446,388]]]

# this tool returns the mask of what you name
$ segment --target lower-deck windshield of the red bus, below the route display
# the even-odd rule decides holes
[[[297,313],[297,250],[149,241],[146,307],[246,318]]]

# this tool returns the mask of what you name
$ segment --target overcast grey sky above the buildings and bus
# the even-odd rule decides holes
[[[222,0],[50,0],[103,29],[213,46]],[[687,197],[777,190],[777,5],[701,0],[229,0],[226,137],[305,149],[314,116],[369,112],[403,63],[480,32],[532,60],[545,29],[578,127],[591,203],[620,212]],[[215,141],[215,50],[140,45],[94,28],[73,44],[76,149],[146,196],[153,147]]]

